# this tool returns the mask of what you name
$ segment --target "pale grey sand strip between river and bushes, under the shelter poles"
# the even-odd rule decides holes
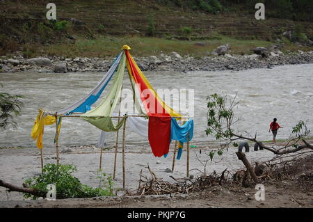
[[[200,149],[202,154],[200,154]],[[61,149],[62,150],[62,149]],[[99,149],[94,146],[85,146],[72,148],[73,152],[61,153],[60,162],[62,164],[74,164],[77,166],[78,171],[75,174],[81,182],[88,184],[92,187],[99,186],[99,179],[97,177],[97,171],[99,168]],[[191,175],[200,175],[200,171],[204,171],[204,162],[198,161],[198,159],[205,161],[209,157],[205,154],[206,148],[191,148],[190,152],[190,169]],[[220,173],[227,168],[229,171],[235,171],[236,169],[243,168],[243,164],[239,161],[235,154],[235,149],[230,149],[223,154],[223,158],[216,157],[216,161],[207,162],[207,173],[216,171]],[[116,180],[114,180],[114,189],[118,190],[122,188],[122,153],[121,149],[118,150],[118,165],[116,171]],[[266,150],[250,151],[246,153],[251,163],[255,161],[266,161],[274,157],[271,152]],[[54,148],[45,148],[44,150],[45,164],[55,163]],[[106,150],[103,156],[103,170],[105,173],[113,174],[113,149]],[[172,175],[175,178],[182,178],[186,176],[186,150],[182,154],[182,159],[175,161],[175,169],[173,173],[166,173],[166,168],[172,168],[172,152],[167,158],[154,157],[150,148],[129,148],[125,154],[126,164],[126,187],[125,189],[134,190],[138,187],[139,174],[143,169],[143,175],[150,175],[147,172],[145,166],[149,164],[150,168],[157,177],[174,182],[169,176]],[[198,169],[198,170],[195,170]],[[37,148],[3,148],[0,150],[0,175],[1,180],[22,186],[22,182],[26,178],[33,177],[41,172],[40,168],[40,156]],[[21,193],[7,193],[4,188],[0,188],[0,200],[22,200]]]

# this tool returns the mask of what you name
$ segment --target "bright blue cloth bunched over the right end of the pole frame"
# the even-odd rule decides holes
[[[190,118],[184,123],[184,125],[179,126],[176,118],[171,120],[171,131],[170,131],[170,141],[175,140],[179,141],[182,145],[187,142],[187,134],[189,133],[189,141],[193,139],[193,119]],[[183,148],[178,148],[177,158],[182,157]],[[164,157],[167,157],[167,154],[164,154]]]

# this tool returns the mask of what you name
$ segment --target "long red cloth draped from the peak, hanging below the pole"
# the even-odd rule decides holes
[[[145,106],[145,111],[149,116],[148,138],[152,152],[156,157],[162,157],[170,150],[170,114],[166,112],[159,100],[154,97],[151,89],[148,88],[145,81],[141,78],[134,63],[129,57],[129,51],[125,50],[127,61],[131,69],[131,75],[134,77],[136,84],[140,84],[141,101]]]

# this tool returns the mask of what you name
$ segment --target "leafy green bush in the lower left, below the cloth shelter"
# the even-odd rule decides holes
[[[38,191],[47,191],[48,184],[56,185],[56,198],[92,198],[95,196],[113,196],[111,177],[106,177],[102,173],[99,177],[100,186],[97,188],[88,187],[81,184],[75,173],[77,168],[70,164],[46,164],[43,168],[43,173],[39,176],[25,180],[27,187],[37,189]],[[30,193],[24,193],[24,198],[37,199]]]

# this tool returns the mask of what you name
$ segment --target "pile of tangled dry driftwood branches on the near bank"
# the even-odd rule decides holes
[[[190,178],[175,178],[170,176],[175,183],[170,183],[157,178],[157,176],[151,171],[150,167],[147,166],[151,177],[147,178],[142,175],[140,176],[139,186],[134,195],[162,195],[162,194],[175,194],[175,193],[194,193],[197,191],[203,191],[214,185],[220,185],[226,181],[227,176],[225,170],[220,175],[215,172],[211,175],[202,174],[200,177],[191,180]],[[229,172],[227,172],[229,173]]]

